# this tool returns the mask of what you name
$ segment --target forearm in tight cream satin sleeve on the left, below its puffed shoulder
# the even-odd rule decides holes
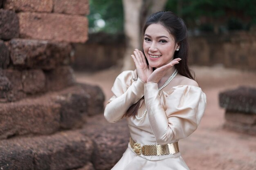
[[[104,116],[107,121],[114,123],[120,120],[128,108],[135,104],[144,95],[144,83],[141,79],[133,82],[125,93],[118,97],[112,97],[106,105]]]

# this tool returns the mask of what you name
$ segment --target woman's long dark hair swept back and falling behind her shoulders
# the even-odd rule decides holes
[[[181,58],[182,61],[179,64],[175,64],[175,68],[177,69],[180,75],[188,77],[190,79],[194,79],[192,76],[189,66],[188,66],[188,55],[189,55],[189,46],[187,40],[187,29],[184,21],[177,17],[171,11],[160,11],[157,13],[153,13],[148,17],[144,27],[142,29],[142,36],[144,37],[145,31],[151,24],[162,24],[168,32],[173,36],[175,43],[178,43],[180,47],[179,51],[174,52],[173,59]],[[139,99],[138,102],[130,106],[127,110],[125,117],[132,117],[135,116],[138,112],[139,107],[141,106],[141,101],[144,100],[144,97]]]

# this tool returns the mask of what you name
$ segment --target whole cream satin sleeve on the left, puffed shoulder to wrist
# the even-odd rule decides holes
[[[115,79],[104,116],[110,123],[120,120],[128,108],[144,96],[144,84],[135,71],[124,71]]]

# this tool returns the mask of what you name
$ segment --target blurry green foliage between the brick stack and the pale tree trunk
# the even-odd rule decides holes
[[[122,0],[90,0],[89,28],[92,32],[103,31],[117,33],[124,31],[124,15]],[[97,20],[105,21],[105,26],[99,28]]]

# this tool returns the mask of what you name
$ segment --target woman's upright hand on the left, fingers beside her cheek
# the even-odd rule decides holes
[[[148,68],[145,56],[141,51],[139,51],[138,49],[135,49],[133,53],[134,55],[131,55],[131,56],[135,63],[138,77],[142,81],[147,82],[148,77],[153,73],[153,68],[152,67]]]

